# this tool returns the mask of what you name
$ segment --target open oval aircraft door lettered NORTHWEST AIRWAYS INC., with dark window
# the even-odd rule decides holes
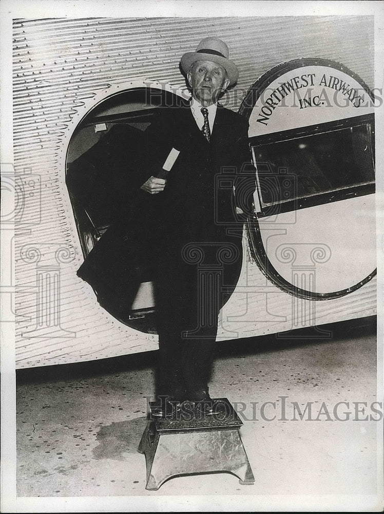
[[[376,273],[373,99],[343,65],[311,58],[271,69],[241,104],[256,168],[251,251],[290,294],[338,298]]]

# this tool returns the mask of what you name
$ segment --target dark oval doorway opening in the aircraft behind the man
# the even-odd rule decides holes
[[[138,185],[132,163],[140,154],[145,158],[144,131],[153,114],[162,105],[175,105],[177,99],[165,89],[128,89],[99,103],[76,127],[68,146],[66,183],[84,259],[106,230],[119,222],[123,202],[135,195]],[[144,278],[123,316],[116,314],[112,300],[100,303],[120,322],[156,333],[150,277]]]

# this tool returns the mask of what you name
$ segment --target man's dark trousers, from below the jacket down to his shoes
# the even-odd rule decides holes
[[[159,397],[199,401],[208,395],[219,311],[236,286],[242,263],[241,239],[236,240],[234,259],[225,265],[217,261],[223,248],[228,243],[168,241],[158,252]],[[203,258],[195,262],[197,254]]]

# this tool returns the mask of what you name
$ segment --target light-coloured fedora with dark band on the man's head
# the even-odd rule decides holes
[[[232,86],[239,78],[239,70],[234,62],[228,59],[229,50],[227,45],[217,38],[204,38],[196,48],[196,52],[184,53],[180,64],[185,74],[190,66],[196,61],[212,61],[225,68],[229,85]]]

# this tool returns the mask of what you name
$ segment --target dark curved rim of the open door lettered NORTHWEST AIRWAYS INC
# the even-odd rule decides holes
[[[344,66],[340,63],[337,63],[329,59],[302,58],[280,63],[277,66],[266,71],[261,77],[259,77],[259,79],[257,79],[256,82],[254,82],[254,84],[252,84],[252,86],[248,89],[239,107],[239,114],[249,119],[251,117],[257,100],[263,94],[264,90],[281,75],[300,67],[314,65],[330,67],[333,69],[340,70],[345,74],[349,75],[351,78],[353,78],[361,85],[361,87],[366,91],[366,93],[371,98],[372,102],[374,102],[375,97],[370,88],[368,87],[368,85],[363,80],[361,80],[357,74],[355,74],[353,71],[347,68],[347,66]],[[251,254],[252,259],[255,261],[261,272],[270,282],[272,282],[276,287],[278,287],[282,291],[289,293],[289,295],[304,300],[332,300],[343,297],[345,295],[348,295],[349,293],[356,291],[364,284],[369,282],[377,273],[377,268],[375,268],[372,271],[372,273],[370,273],[367,277],[363,278],[361,281],[354,284],[353,286],[329,293],[320,293],[301,289],[285,280],[272,265],[270,259],[268,259],[266,250],[264,248],[264,244],[262,242],[260,225],[256,214],[247,216],[245,228],[247,233],[249,252]]]

